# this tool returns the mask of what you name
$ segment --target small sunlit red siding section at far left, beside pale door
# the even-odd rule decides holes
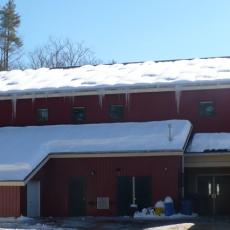
[[[21,187],[1,186],[0,187],[0,216],[12,217],[23,214],[21,207]]]

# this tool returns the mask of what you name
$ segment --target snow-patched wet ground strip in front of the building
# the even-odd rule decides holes
[[[4,220],[5,219],[5,220]],[[0,230],[229,230],[230,219],[226,217],[197,217],[174,220],[136,220],[131,217],[73,217],[19,219],[1,218]]]

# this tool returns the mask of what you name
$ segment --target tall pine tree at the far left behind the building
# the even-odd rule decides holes
[[[22,41],[17,35],[20,25],[20,16],[16,13],[14,0],[9,0],[0,9],[0,69],[10,68],[10,59],[22,46]]]

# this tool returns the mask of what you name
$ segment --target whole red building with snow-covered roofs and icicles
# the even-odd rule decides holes
[[[1,216],[126,215],[179,203],[183,181],[198,212],[230,213],[230,139],[193,147],[230,132],[230,59],[0,72],[0,86]]]

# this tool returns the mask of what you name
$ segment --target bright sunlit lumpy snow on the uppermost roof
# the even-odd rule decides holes
[[[229,84],[230,58],[0,72],[0,94]]]

